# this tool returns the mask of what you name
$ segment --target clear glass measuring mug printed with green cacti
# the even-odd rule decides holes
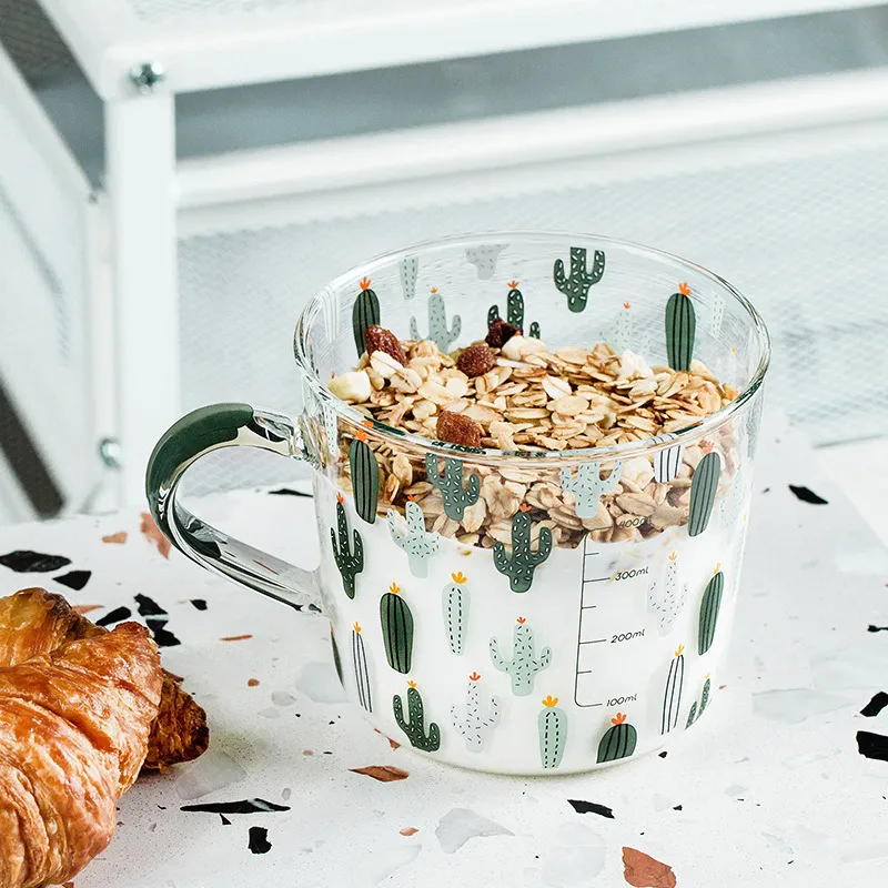
[[[655,369],[699,361],[736,397],[713,415],[676,415],[659,437],[642,427],[613,441],[603,420],[593,437],[605,446],[577,448],[588,441],[554,428],[567,448],[532,453],[405,433],[326,389],[357,363],[367,323],[401,339],[427,333],[448,352],[482,340],[501,313],[567,357],[569,346],[604,341]],[[249,588],[323,612],[342,682],[371,724],[442,761],[591,770],[659,749],[700,717],[730,635],[769,360],[764,323],[734,287],[605,238],[451,238],[337,278],[302,312],[294,347],[297,416],[216,404],[158,443],[147,492],[173,545]],[[712,390],[695,384],[706,390],[696,403],[713,406]],[[241,445],[314,468],[314,571],[178,502],[195,460]]]

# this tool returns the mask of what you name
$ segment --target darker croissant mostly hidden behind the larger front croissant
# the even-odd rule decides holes
[[[78,614],[61,595],[46,589],[21,589],[0,598],[0,666],[14,666],[65,642],[107,634],[107,629]],[[151,726],[145,769],[163,770],[206,751],[206,713],[182,690],[181,680],[163,670],[160,712]]]

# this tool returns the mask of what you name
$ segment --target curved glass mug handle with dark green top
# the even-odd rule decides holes
[[[301,610],[320,610],[320,587],[304,571],[206,524],[178,500],[179,483],[201,456],[222,447],[259,447],[309,461],[302,434],[289,416],[249,404],[199,407],[174,423],[158,442],[145,472],[151,515],[184,555],[216,574]]]

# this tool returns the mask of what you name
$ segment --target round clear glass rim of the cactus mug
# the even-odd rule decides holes
[[[464,447],[450,444],[443,441],[425,437],[416,432],[406,432],[400,428],[381,423],[379,420],[373,420],[373,427],[367,428],[367,433],[374,437],[381,437],[390,444],[400,444],[402,447],[411,445],[418,447],[423,451],[431,451],[438,453],[442,456],[460,457],[463,460],[471,460],[484,464],[498,464],[503,462],[514,463],[523,461],[532,463],[534,466],[543,467],[549,463],[576,463],[578,461],[597,461],[610,462],[614,460],[628,460],[635,456],[648,455],[653,451],[662,450],[672,446],[676,442],[686,441],[687,438],[703,437],[710,432],[719,428],[727,423],[736,413],[749,402],[761,387],[765,375],[770,365],[771,357],[771,343],[770,334],[765,324],[764,319],[758,313],[753,303],[737,290],[729,281],[726,281],[719,274],[709,271],[707,268],[692,262],[690,260],[669,253],[665,250],[657,248],[646,246],[634,241],[627,241],[619,238],[608,238],[606,235],[582,233],[575,231],[554,231],[554,230],[497,230],[497,231],[481,231],[464,234],[453,234],[443,238],[432,238],[425,241],[420,241],[398,250],[392,250],[381,253],[365,262],[353,265],[343,273],[336,275],[325,286],[315,292],[309,300],[305,307],[300,312],[296,320],[296,326],[293,333],[293,353],[296,365],[302,374],[303,385],[309,384],[316,397],[320,397],[322,403],[327,403],[336,413],[346,422],[354,426],[360,426],[366,422],[367,416],[359,411],[353,405],[341,401],[332,394],[323,384],[320,375],[312,369],[311,360],[307,353],[306,342],[306,325],[310,320],[323,311],[322,299],[331,292],[345,289],[355,278],[371,276],[376,270],[389,266],[393,262],[397,262],[406,255],[421,253],[441,246],[478,246],[487,243],[502,243],[508,239],[508,242],[516,240],[542,240],[542,241],[557,241],[564,243],[566,241],[595,241],[603,244],[606,249],[608,245],[616,246],[629,253],[636,253],[648,259],[655,259],[663,263],[672,264],[678,269],[693,271],[697,275],[706,278],[713,285],[723,290],[727,296],[733,299],[740,305],[749,319],[751,329],[755,332],[755,342],[758,346],[758,363],[753,372],[749,382],[744,389],[737,393],[737,396],[724,407],[720,407],[715,413],[708,416],[703,416],[697,422],[679,428],[676,432],[665,432],[660,435],[652,435],[648,438],[640,441],[629,441],[622,444],[609,444],[605,447],[583,447],[575,450],[561,450],[561,451],[504,451],[497,447]],[[375,434],[374,434],[375,433]]]

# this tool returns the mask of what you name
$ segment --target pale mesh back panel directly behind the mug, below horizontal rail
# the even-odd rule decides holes
[[[765,315],[771,395],[814,441],[886,434],[887,170],[888,143],[872,144],[535,194],[516,181],[508,199],[191,238],[180,252],[185,406],[295,408],[294,321],[326,281],[425,238],[533,228],[656,244],[716,270]],[[496,275],[509,274],[504,253]]]

